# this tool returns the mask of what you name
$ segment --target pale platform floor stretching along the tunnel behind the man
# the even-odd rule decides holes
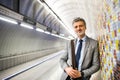
[[[20,73],[20,72],[21,72],[20,74],[15,75],[9,80],[60,80],[63,70],[60,67],[59,59],[62,55],[61,53],[63,52],[64,51],[53,53],[49,56],[45,56],[40,59],[36,59],[28,63],[24,63],[21,65],[12,67],[10,69],[1,71],[0,80],[8,80],[7,79],[8,77],[14,76],[15,74]],[[50,58],[50,57],[54,57],[54,58]],[[46,58],[47,59],[50,58],[50,59],[46,60]],[[40,64],[29,70],[26,70],[30,68],[31,66],[36,65],[38,63]],[[94,74],[91,77],[91,80],[102,80],[100,77],[100,71]]]

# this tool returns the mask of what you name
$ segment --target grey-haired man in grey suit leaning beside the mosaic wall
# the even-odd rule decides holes
[[[79,59],[76,59],[76,69],[72,68],[72,57],[71,57],[71,45],[70,41],[67,44],[66,52],[60,59],[61,67],[64,73],[61,80],[90,80],[93,73],[99,70],[100,60],[98,52],[98,42],[89,38],[86,34],[86,22],[84,19],[77,17],[72,23],[74,31],[77,34],[77,38],[74,40],[75,55],[79,48],[79,44],[82,44],[81,50],[79,50]],[[82,42],[80,43],[79,40]]]

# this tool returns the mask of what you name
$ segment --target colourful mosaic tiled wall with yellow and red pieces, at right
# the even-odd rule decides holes
[[[103,0],[98,16],[103,80],[120,80],[120,0]]]

